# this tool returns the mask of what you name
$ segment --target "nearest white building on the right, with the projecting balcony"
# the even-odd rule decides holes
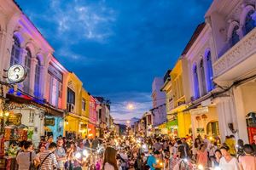
[[[246,143],[255,131],[255,0],[213,1],[206,14],[212,28],[215,99],[222,139],[235,134]]]

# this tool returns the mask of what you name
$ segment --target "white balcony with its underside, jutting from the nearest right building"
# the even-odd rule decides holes
[[[253,59],[248,59],[253,54],[256,54],[256,28],[250,31],[245,37],[243,37],[239,42],[236,43],[232,48],[230,48],[225,54],[223,54],[214,64],[213,71],[215,79],[218,77],[227,79],[236,78],[234,74],[241,76],[245,71],[252,69]],[[247,65],[241,65],[243,61],[247,59]],[[249,62],[250,60],[250,62]],[[249,64],[249,65],[248,65]],[[255,63],[254,63],[255,64]],[[236,69],[234,67],[237,66]],[[233,69],[233,73],[228,72]],[[221,78],[221,79],[223,79]]]

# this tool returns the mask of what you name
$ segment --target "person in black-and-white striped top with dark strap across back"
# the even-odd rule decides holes
[[[58,166],[56,156],[54,154],[57,144],[52,142],[49,144],[48,150],[45,150],[39,157],[40,170],[54,170]]]

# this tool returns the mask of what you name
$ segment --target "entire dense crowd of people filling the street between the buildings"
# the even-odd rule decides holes
[[[233,135],[224,143],[220,139],[189,135],[173,139],[105,135],[104,139],[66,139],[52,136],[42,139],[38,147],[21,141],[16,154],[19,170],[159,170],[222,169],[256,170],[256,135],[253,144],[243,144]]]

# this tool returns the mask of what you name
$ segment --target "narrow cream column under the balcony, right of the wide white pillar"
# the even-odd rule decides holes
[[[245,144],[248,141],[247,134],[247,122],[246,122],[246,114],[243,105],[242,92],[241,87],[233,88],[234,100],[236,104],[236,119],[237,119],[237,129],[238,129],[238,139],[242,139]]]

